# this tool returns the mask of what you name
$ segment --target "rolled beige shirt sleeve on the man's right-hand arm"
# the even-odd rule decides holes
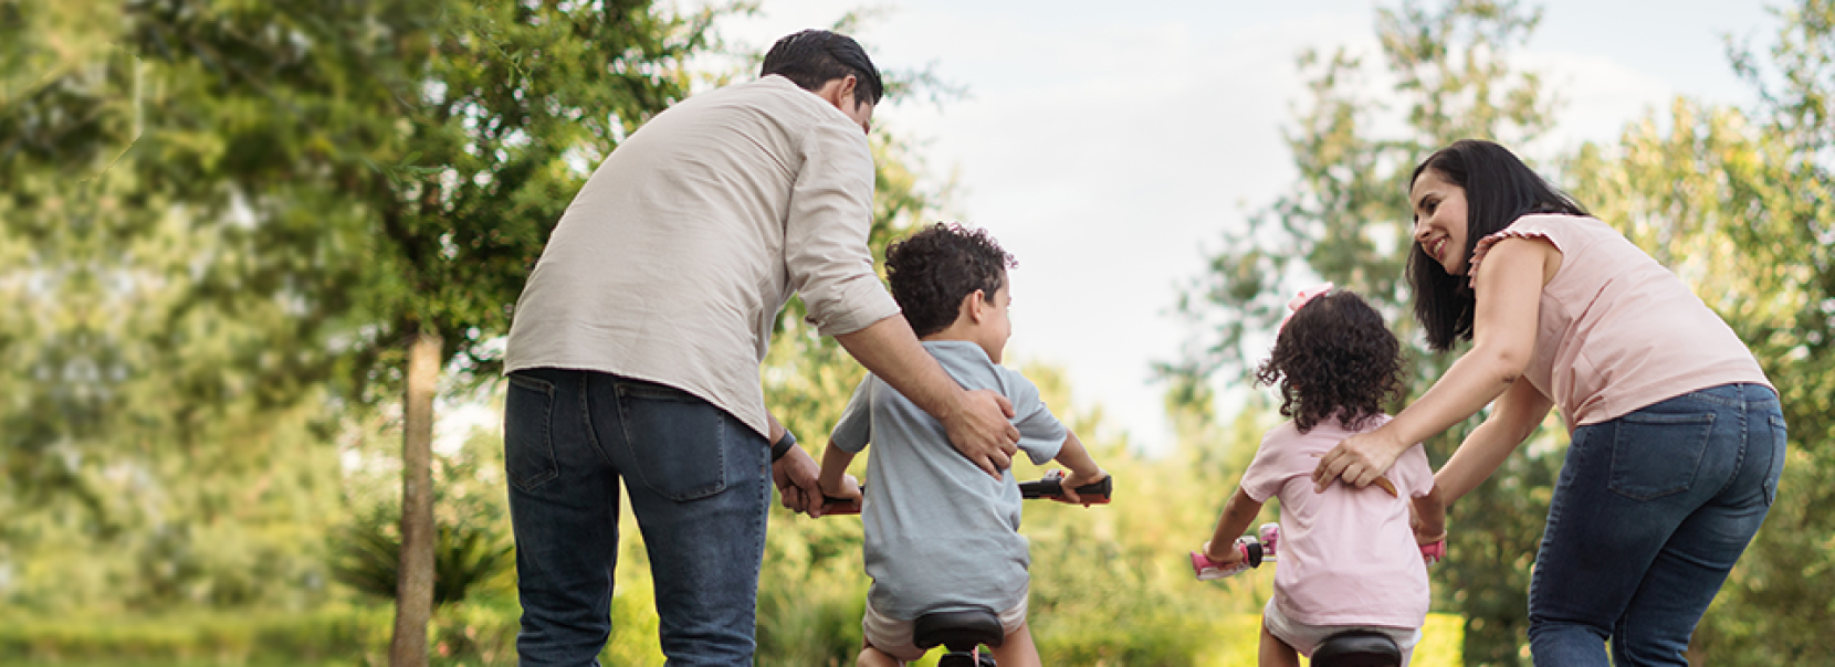
[[[809,323],[822,335],[840,335],[897,315],[866,244],[873,214],[873,154],[866,134],[844,117],[820,117],[809,123],[800,150],[784,264],[791,288],[809,308]]]

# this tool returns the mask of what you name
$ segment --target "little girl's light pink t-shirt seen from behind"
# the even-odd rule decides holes
[[[1385,421],[1389,416],[1376,416],[1362,431]],[[1319,456],[1354,432],[1338,420],[1308,432],[1283,423],[1262,436],[1255,462],[1242,473],[1250,498],[1281,498],[1273,601],[1281,614],[1307,625],[1418,629],[1428,618],[1428,566],[1407,526],[1407,506],[1409,497],[1433,491],[1433,469],[1417,443],[1387,473],[1400,498],[1374,484],[1332,484],[1314,493]]]

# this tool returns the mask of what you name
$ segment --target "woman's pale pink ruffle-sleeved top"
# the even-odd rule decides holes
[[[1518,218],[1479,240],[1474,282],[1485,253],[1503,238],[1541,238],[1562,251],[1562,268],[1541,288],[1536,352],[1523,377],[1554,401],[1567,431],[1699,388],[1771,387],[1719,315],[1604,222]]]

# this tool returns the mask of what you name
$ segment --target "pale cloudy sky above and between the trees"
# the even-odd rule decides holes
[[[1305,93],[1296,55],[1347,46],[1380,66],[1378,5],[1396,4],[762,0],[717,29],[763,49],[866,7],[853,37],[881,70],[929,68],[965,88],[873,121],[916,147],[932,183],[954,178],[947,220],[985,227],[1018,258],[1007,365],[1064,368],[1079,410],[1099,405],[1110,434],[1160,451],[1171,427],[1151,365],[1189,339],[1171,315],[1180,288],[1294,180],[1283,132]],[[1751,104],[1725,38],[1769,44],[1776,26],[1758,0],[1541,7],[1514,62],[1565,101],[1543,150],[1613,141],[1677,95]]]

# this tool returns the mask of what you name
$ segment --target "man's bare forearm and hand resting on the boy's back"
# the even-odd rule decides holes
[[[1013,465],[1020,429],[1007,421],[1013,401],[993,390],[963,390],[918,343],[905,315],[892,315],[853,334],[835,335],[853,359],[901,396],[943,421],[949,442],[996,480]]]

